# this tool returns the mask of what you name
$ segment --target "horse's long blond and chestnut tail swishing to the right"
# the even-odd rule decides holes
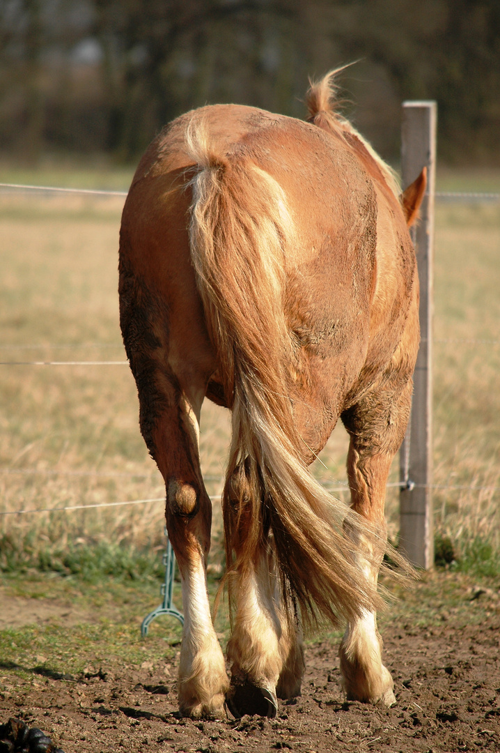
[[[223,494],[226,562],[245,569],[268,530],[289,615],[338,623],[380,608],[355,564],[347,525],[365,523],[332,498],[301,459],[289,398],[292,340],[283,312],[286,248],[294,239],[286,195],[242,154],[211,145],[203,123],[186,130],[198,165],[192,180],[190,245],[220,378],[232,407]],[[372,535],[372,532],[371,532]],[[365,553],[366,556],[366,553]]]

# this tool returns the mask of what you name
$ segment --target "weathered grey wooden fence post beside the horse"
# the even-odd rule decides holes
[[[427,188],[420,221],[412,228],[420,280],[420,350],[414,376],[411,419],[400,452],[399,544],[415,566],[434,563],[432,531],[432,277],[436,155],[435,102],[404,102],[402,182],[407,187],[424,166]]]

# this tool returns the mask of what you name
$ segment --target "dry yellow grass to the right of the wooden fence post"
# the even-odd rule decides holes
[[[500,204],[438,212],[435,490],[438,527],[500,549]]]

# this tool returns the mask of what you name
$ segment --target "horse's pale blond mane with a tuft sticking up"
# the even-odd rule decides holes
[[[349,63],[348,65],[351,64]],[[338,100],[338,90],[340,87],[335,83],[335,78],[339,73],[344,71],[348,65],[330,71],[323,76],[320,81],[313,81],[311,78],[309,79],[309,89],[305,98],[308,107],[308,123],[313,123],[315,126],[326,131],[334,131],[336,133],[347,132],[350,136],[358,139],[368,152],[371,159],[377,164],[386,184],[399,202],[401,187],[395,171],[384,162],[381,157],[379,157],[377,152],[374,151],[374,148],[372,148],[366,139],[364,139],[363,136],[361,136],[361,134],[353,127],[353,124],[345,117],[342,117],[338,112],[340,104]]]

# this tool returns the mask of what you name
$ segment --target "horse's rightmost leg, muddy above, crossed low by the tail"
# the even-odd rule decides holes
[[[399,380],[395,380],[399,381]],[[383,559],[386,523],[383,514],[386,482],[395,453],[405,434],[411,404],[411,381],[393,391],[384,389],[365,397],[342,415],[350,434],[347,476],[353,509],[374,527],[374,535],[364,535],[366,556],[359,566],[374,583]],[[350,535],[359,536],[353,531]],[[382,639],[377,615],[365,611],[347,626],[340,647],[341,673],[348,700],[395,703],[389,670],[382,663]]]

